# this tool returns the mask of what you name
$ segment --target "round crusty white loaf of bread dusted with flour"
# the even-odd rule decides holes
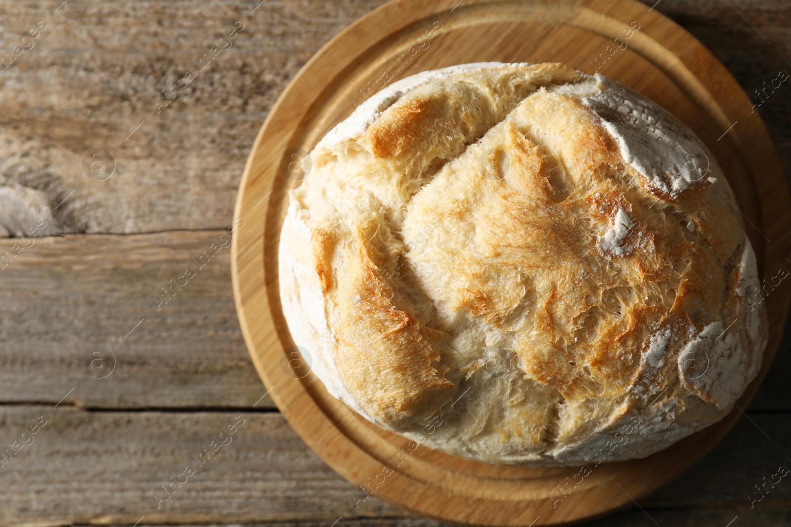
[[[494,464],[645,457],[721,420],[759,371],[736,198],[626,86],[558,63],[427,71],[310,158],[283,313],[329,393],[381,427]]]

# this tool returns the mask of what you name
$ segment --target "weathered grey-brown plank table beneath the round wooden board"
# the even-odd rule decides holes
[[[230,295],[259,125],[380,2],[61,2],[0,0],[0,525],[436,525],[355,508],[265,396]],[[656,9],[748,93],[791,73],[787,1]],[[791,175],[789,84],[756,111]],[[789,347],[698,466],[591,525],[791,525],[791,476],[755,491],[791,468]]]

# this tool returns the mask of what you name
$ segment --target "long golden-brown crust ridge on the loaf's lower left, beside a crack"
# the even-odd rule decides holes
[[[369,416],[391,427],[407,427],[425,412],[437,412],[456,385],[433,367],[440,354],[432,344],[442,333],[422,326],[393,303],[384,275],[388,255],[378,251],[383,243],[376,235],[365,234],[354,232],[356,254],[339,271],[330,318],[338,340],[335,362]]]

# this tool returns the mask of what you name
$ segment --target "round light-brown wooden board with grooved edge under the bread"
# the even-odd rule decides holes
[[[578,468],[486,465],[425,446],[411,452],[407,439],[354,414],[314,375],[299,373],[306,371],[304,363],[290,361],[297,355],[278,296],[277,250],[286,191],[299,184],[285,176],[292,156],[309,152],[383,85],[423,70],[483,61],[556,61],[588,73],[598,70],[673,111],[724,168],[763,277],[774,277],[787,265],[791,201],[770,137],[725,67],[678,25],[632,0],[408,0],[382,6],[327,43],[264,123],[237,199],[232,262],[237,311],[255,367],[278,408],[347,480],[446,522],[580,521],[632,506],[679,476],[725,435],[740,410],[658,454],[598,465],[582,478]],[[766,295],[769,346],[759,378],[737,401],[740,408],[755,395],[778,347],[789,282]],[[350,495],[350,505],[364,497]]]

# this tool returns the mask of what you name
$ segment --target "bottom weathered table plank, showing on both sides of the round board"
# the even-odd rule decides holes
[[[35,424],[38,416],[44,416],[44,427],[23,438],[21,433]],[[757,496],[754,485],[762,484],[763,476],[771,476],[778,465],[791,467],[785,458],[791,444],[791,414],[751,418],[771,440],[750,420],[740,420],[734,432],[700,465],[675,484],[641,500],[641,506],[652,516],[657,511],[660,518],[668,519],[663,523],[654,518],[660,525],[724,527],[736,514],[740,525],[761,525],[759,520],[782,525],[779,518],[791,514],[791,476],[782,478],[752,510],[747,495]],[[234,420],[244,420],[244,425],[230,436],[230,442],[223,438],[228,444],[215,446],[218,451],[198,466],[192,456],[209,448]],[[355,487],[316,458],[276,412],[0,408],[0,446],[6,448],[23,439],[30,444],[0,468],[0,525],[55,524],[53,514],[66,525],[132,525],[144,515],[142,525],[252,523],[252,515],[259,521],[330,525],[339,517],[409,515],[375,497],[355,509]],[[197,467],[195,474],[180,476],[187,465]],[[159,499],[167,497],[161,485],[168,484],[170,477],[186,482],[181,487],[174,485],[170,498],[160,503]],[[698,512],[677,513],[683,508]],[[615,522],[608,518],[596,525],[649,525],[641,514],[637,510],[616,517],[620,519]],[[684,518],[686,524],[676,523]],[[725,522],[715,522],[721,519]],[[712,523],[696,523],[698,520]]]

